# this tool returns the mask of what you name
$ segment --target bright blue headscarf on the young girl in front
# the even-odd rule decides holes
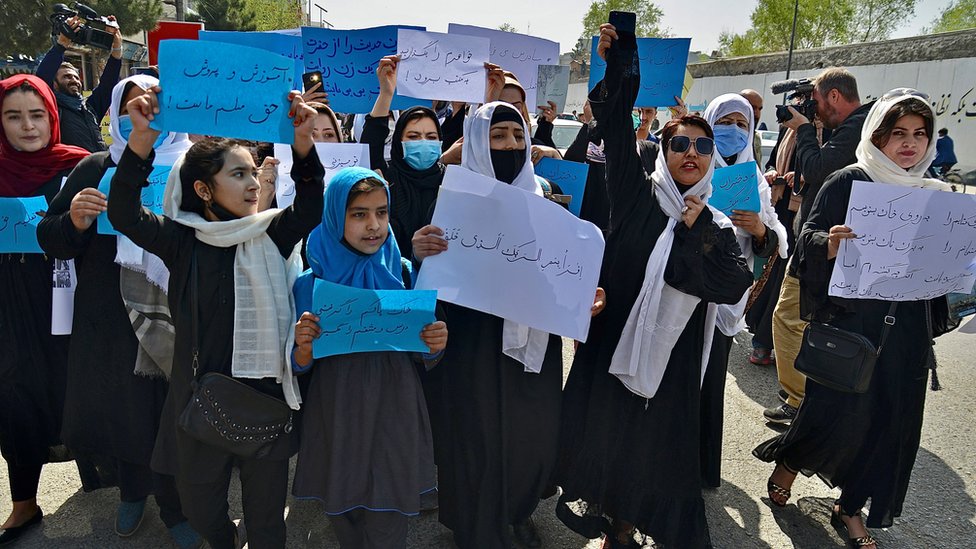
[[[373,254],[355,251],[344,241],[349,191],[356,183],[367,178],[383,181],[389,204],[389,185],[379,174],[367,168],[343,168],[332,177],[325,189],[322,224],[308,235],[306,257],[311,269],[302,273],[295,282],[299,316],[311,310],[315,278],[367,290],[404,289],[400,248],[393,237],[392,228],[386,242]]]

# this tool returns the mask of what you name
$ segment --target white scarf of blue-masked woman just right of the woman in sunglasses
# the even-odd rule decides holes
[[[746,143],[745,148],[739,151],[739,154],[735,158],[735,164],[742,164],[743,162],[755,162],[755,151],[753,150],[752,143],[756,136],[755,120],[753,119],[752,105],[737,93],[726,93],[716,97],[705,109],[704,118],[705,121],[712,127],[724,116],[737,112],[745,117],[749,123],[748,136],[749,140]],[[716,149],[716,153],[718,150]],[[718,168],[724,168],[728,166],[722,155],[715,154],[715,164]],[[779,220],[779,216],[776,215],[776,210],[773,208],[773,195],[769,188],[769,184],[766,183],[766,177],[763,175],[762,171],[759,169],[758,164],[756,165],[756,181],[759,185],[759,219],[762,221],[763,225],[768,227],[778,237],[778,252],[779,256],[786,259],[787,252],[789,251],[789,241],[786,234],[786,227]],[[746,259],[746,265],[749,265],[749,269],[755,268],[756,256],[752,252],[752,235],[749,234],[745,229],[735,227],[735,238],[739,242],[739,248],[742,250],[742,255]],[[749,290],[746,290],[742,295],[742,299],[734,305],[719,305],[717,313],[718,329],[725,335],[731,337],[735,334],[741,332],[746,327],[745,322],[745,311],[746,303],[749,301]]]

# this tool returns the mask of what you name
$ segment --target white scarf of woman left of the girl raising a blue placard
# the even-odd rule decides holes
[[[122,137],[122,132],[119,131],[118,117],[119,111],[122,108],[125,89],[130,82],[143,90],[159,84],[159,80],[152,76],[137,74],[120,80],[112,88],[112,104],[108,111],[108,133],[112,136],[112,144],[109,145],[108,150],[109,155],[112,157],[112,162],[116,165],[118,165],[119,160],[122,158],[122,153],[125,152],[125,147],[128,143]],[[163,143],[155,149],[156,157],[153,160],[153,164],[156,166],[172,166],[176,162],[176,159],[192,145],[193,143],[190,142],[189,136],[185,133],[170,132],[163,139]],[[145,275],[149,282],[161,288],[164,292],[169,291],[169,269],[166,268],[166,265],[159,257],[146,252],[124,236],[120,235],[117,240],[116,263],[125,269]]]

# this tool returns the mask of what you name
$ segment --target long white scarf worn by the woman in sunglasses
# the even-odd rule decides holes
[[[644,398],[654,398],[671,353],[688,320],[694,314],[701,298],[688,295],[672,288],[664,281],[664,270],[674,245],[674,228],[681,221],[685,207],[684,195],[678,190],[665,161],[665,150],[658,150],[654,173],[654,197],[668,216],[668,223],[654,243],[654,249],[647,259],[644,270],[644,284],[634,302],[627,323],[620,334],[620,341],[610,360],[610,373],[632,393]],[[708,173],[689,189],[685,195],[697,195],[707,201],[712,194],[712,174],[714,163],[709,164]],[[732,227],[731,221],[722,212],[709,206],[714,222],[721,228]],[[705,377],[705,367],[712,347],[715,332],[716,306],[709,304],[705,313],[704,345],[701,349],[701,379]]]

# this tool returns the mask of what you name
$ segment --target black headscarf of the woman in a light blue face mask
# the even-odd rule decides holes
[[[390,161],[384,173],[390,183],[390,225],[403,257],[413,256],[410,239],[417,229],[427,223],[430,207],[437,199],[437,189],[444,179],[444,165],[435,162],[426,170],[418,170],[403,160],[403,132],[407,123],[417,119],[417,113],[434,121],[437,138],[442,139],[437,115],[427,107],[411,107],[400,113],[393,128]]]

